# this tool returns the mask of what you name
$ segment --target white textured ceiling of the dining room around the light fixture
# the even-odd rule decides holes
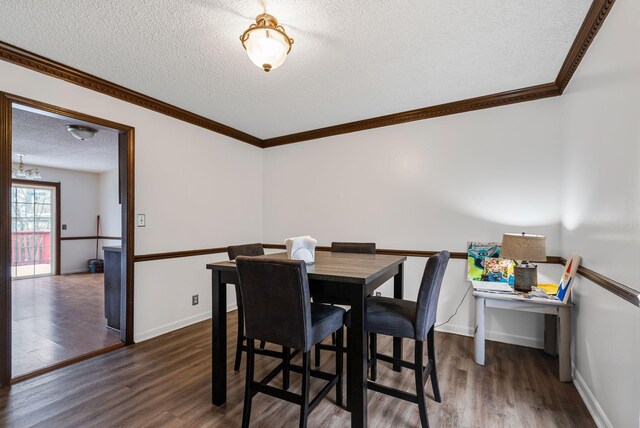
[[[267,1],[295,39],[255,67],[258,0],[0,0],[0,40],[259,138],[552,82],[589,0]]]

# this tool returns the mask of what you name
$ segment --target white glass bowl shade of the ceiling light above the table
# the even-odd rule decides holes
[[[285,37],[277,31],[267,29],[251,31],[245,47],[251,61],[264,71],[280,67],[289,53]]]

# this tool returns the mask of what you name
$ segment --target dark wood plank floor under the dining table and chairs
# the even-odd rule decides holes
[[[238,427],[242,418],[244,358],[233,372],[236,314],[230,313],[229,392],[223,407],[211,405],[211,322],[121,348],[0,390],[0,426],[8,427]],[[432,427],[593,427],[573,384],[558,381],[557,360],[542,351],[487,342],[487,365],[473,362],[473,340],[436,333],[443,403],[428,393]],[[380,340],[381,350],[391,342]],[[406,346],[406,358],[412,346]],[[259,357],[260,358],[260,357]],[[274,363],[257,360],[257,375]],[[331,369],[327,354],[323,367]],[[379,381],[412,388],[412,375],[383,364]],[[274,383],[279,385],[280,378]],[[312,382],[313,383],[313,382]],[[292,373],[292,390],[299,388]],[[318,390],[319,383],[312,387]],[[313,394],[313,392],[312,392]],[[349,425],[349,414],[330,393],[311,414],[311,427]],[[369,392],[370,427],[416,427],[418,408]],[[297,426],[298,408],[258,395],[254,427]]]

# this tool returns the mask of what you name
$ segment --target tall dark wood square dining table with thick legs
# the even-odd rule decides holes
[[[286,259],[287,253],[257,257]],[[347,409],[351,412],[352,427],[367,426],[367,296],[393,279],[393,297],[401,299],[406,259],[405,256],[388,254],[316,251],[314,262],[306,265],[312,295],[322,295],[324,302],[350,306],[346,384]],[[209,263],[207,269],[212,274],[211,401],[214,405],[221,406],[227,401],[227,284],[237,284],[238,273],[233,261]],[[402,356],[400,338],[393,339],[393,355],[396,359]],[[394,365],[393,370],[399,372],[400,365]]]

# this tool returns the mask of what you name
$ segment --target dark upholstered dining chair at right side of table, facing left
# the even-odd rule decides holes
[[[367,299],[367,332],[370,334],[371,380],[367,388],[372,391],[391,395],[395,398],[418,403],[420,423],[423,428],[429,426],[427,406],[424,399],[424,384],[431,378],[431,387],[436,402],[442,402],[434,347],[434,324],[442,278],[449,262],[449,252],[441,251],[427,261],[418,291],[418,301],[411,302],[389,297],[369,297]],[[350,326],[350,313],[345,317]],[[377,352],[377,335],[413,339],[415,343],[414,362],[396,359]],[[424,365],[424,342],[427,343],[427,365]],[[409,394],[395,388],[375,383],[378,360],[412,369],[415,373],[416,394]]]

